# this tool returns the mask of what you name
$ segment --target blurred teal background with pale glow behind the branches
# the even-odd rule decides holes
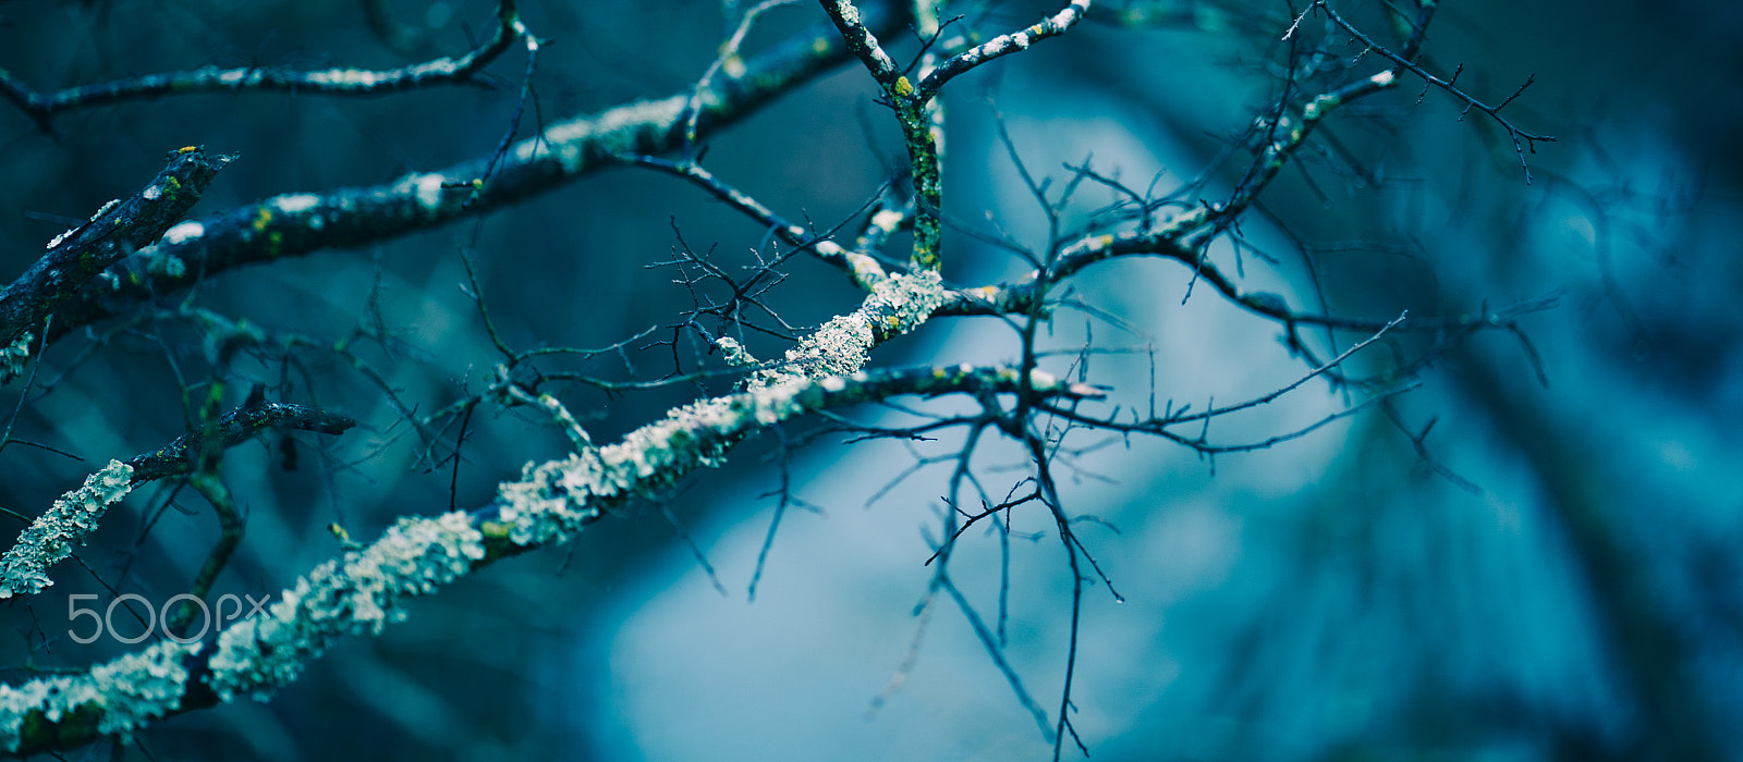
[[[394,30],[371,26],[376,5]],[[525,2],[528,28],[553,43],[519,136],[539,118],[685,92],[737,5]],[[1393,40],[1380,3],[1333,7]],[[1051,10],[1011,2],[948,12],[997,33]],[[1070,35],[953,82],[946,277],[980,285],[1027,271],[974,231],[1046,244],[995,115],[1028,170],[1056,186],[1065,164],[1091,162],[1140,190],[1156,177],[1159,191],[1210,170],[1204,195],[1225,195],[1248,158],[1217,164],[1218,153],[1276,99],[1279,38],[1297,10],[1096,3]],[[819,21],[812,3],[772,10],[746,50]],[[488,2],[12,0],[0,2],[0,68],[42,90],[206,64],[394,68],[464,52],[492,24]],[[1337,38],[1323,17],[1302,30]],[[1743,424],[1740,33],[1743,7],[1726,2],[1443,7],[1426,68],[1462,64],[1461,87],[1490,103],[1536,75],[1506,110],[1522,129],[1558,137],[1529,157],[1530,184],[1502,130],[1475,113],[1461,120],[1462,104],[1410,78],[1326,124],[1246,217],[1241,233],[1257,252],[1239,263],[1243,289],[1382,320],[1558,296],[1522,320],[1541,378],[1520,338],[1490,331],[1438,355],[1421,369],[1422,388],[1387,409],[1250,454],[1070,440],[1082,451],[1063,463],[1061,499],[1100,518],[1079,534],[1124,597],[1102,586],[1084,597],[1072,724],[1093,759],[1743,759],[1743,485],[1726,477],[1726,463],[1743,458],[1743,440],[1726,433]],[[52,134],[0,110],[0,264],[21,273],[49,238],[134,193],[164,151],[185,144],[239,153],[193,217],[485,157],[511,125],[523,66],[509,54],[488,87],[385,97],[125,103],[64,113]],[[852,219],[905,162],[856,66],[708,144],[716,176],[819,228]],[[1072,219],[1116,197],[1086,190],[1079,200]],[[223,459],[248,538],[218,592],[275,593],[338,553],[331,522],[373,539],[401,515],[485,505],[521,465],[563,452],[561,435],[518,411],[481,409],[457,459],[457,430],[431,445],[404,423],[408,411],[476,393],[502,362],[462,291],[467,257],[504,341],[626,343],[553,365],[626,381],[720,367],[673,327],[694,304],[678,271],[650,268],[685,245],[730,270],[767,251],[756,224],[697,190],[621,169],[380,245],[225,273],[162,306],[188,299],[246,318],[268,336],[260,346],[228,357],[185,318],[98,325],[49,350],[23,404],[21,383],[0,390],[0,409],[19,409],[12,437],[52,447],[0,451],[0,506],[31,517],[110,458],[164,445],[213,381],[227,383],[227,407],[265,384],[272,398],[361,421],[343,437],[274,435]],[[1232,251],[1213,257],[1236,270]],[[795,327],[858,303],[823,264],[800,257],[783,271],[767,299]],[[1190,282],[1161,259],[1091,268],[1072,287],[1096,311],[1061,310],[1044,341],[1122,350],[1093,357],[1088,374],[1140,407],[1152,384],[1157,398],[1206,407],[1309,369],[1279,325],[1203,284],[1187,299]],[[1389,341],[1356,362],[1380,372],[1438,339]],[[1323,336],[1311,341],[1325,348]],[[784,346],[751,336],[760,357]],[[1009,362],[1018,351],[1002,322],[953,318],[873,362]],[[563,400],[596,440],[615,440],[729,388],[730,378],[627,395],[577,386]],[[1353,402],[1360,395],[1314,381],[1217,421],[1208,437],[1257,442]],[[892,409],[851,418],[913,421]],[[753,438],[662,501],[415,602],[410,621],[340,644],[270,703],[166,720],[120,759],[1051,755],[962,612],[939,600],[915,614],[950,463],[910,468],[960,438],[807,440],[819,424]],[[1000,494],[1025,473],[1002,442],[985,444],[974,465]],[[797,501],[763,557],[783,480]],[[192,491],[136,491],[82,564],[56,567],[54,588],[0,607],[5,678],[125,652],[61,637],[64,597],[167,598],[187,590],[216,532]],[[1048,517],[1014,511],[1011,539],[1004,659],[1051,725],[1070,576]],[[966,534],[950,571],[994,621],[999,538]]]

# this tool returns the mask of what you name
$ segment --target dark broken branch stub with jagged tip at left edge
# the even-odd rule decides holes
[[[164,235],[232,158],[183,148],[138,193],[106,204],[89,223],[58,235],[47,254],[0,291],[0,346],[42,324],[105,268]]]

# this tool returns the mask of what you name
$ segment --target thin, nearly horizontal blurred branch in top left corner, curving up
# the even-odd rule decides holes
[[[96,85],[68,87],[56,92],[37,92],[5,70],[0,70],[0,97],[28,113],[38,127],[47,130],[49,122],[61,111],[183,92],[295,90],[300,94],[376,96],[437,84],[469,82],[472,75],[502,56],[514,40],[525,35],[526,28],[521,24],[514,0],[500,0],[497,3],[495,33],[490,40],[458,57],[437,57],[396,70],[331,68],[296,71],[263,66],[230,70],[206,66],[193,71],[132,77]]]

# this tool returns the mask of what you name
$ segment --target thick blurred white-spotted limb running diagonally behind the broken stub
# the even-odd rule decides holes
[[[878,24],[899,21],[873,14]],[[826,26],[795,35],[753,57],[743,71],[715,77],[702,94],[699,129],[708,134],[739,120],[770,99],[847,59],[845,45]],[[394,183],[328,193],[288,193],[183,223],[164,240],[108,271],[108,287],[80,294],[56,311],[49,341],[94,322],[127,313],[153,296],[173,294],[202,277],[232,268],[305,256],[321,249],[354,249],[498,211],[600,169],[621,165],[622,155],[666,153],[683,141],[690,92],[638,101],[553,124],[539,137],[516,143],[488,183],[474,188],[492,157]],[[174,266],[160,266],[174,263]]]

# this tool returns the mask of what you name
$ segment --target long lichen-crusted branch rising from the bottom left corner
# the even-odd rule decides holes
[[[404,619],[406,600],[495,560],[568,539],[603,511],[722,463],[758,428],[898,395],[1025,390],[1049,398],[1100,397],[1091,386],[1039,371],[1023,378],[1011,367],[960,365],[790,379],[675,409],[598,452],[528,465],[483,510],[401,518],[373,545],[298,578],[265,614],[232,625],[214,644],[166,640],[85,675],[0,685],[0,750],[66,750],[220,701],[265,699],[338,638],[376,635]]]

